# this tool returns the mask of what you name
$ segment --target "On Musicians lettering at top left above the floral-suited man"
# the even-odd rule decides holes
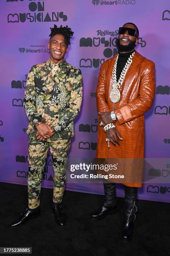
[[[20,2],[17,0],[7,0],[7,2]],[[28,9],[29,13],[9,13],[7,15],[8,23],[18,23],[18,22],[26,22],[27,20],[30,22],[63,22],[67,21],[67,15],[63,12],[52,12],[52,13],[44,13],[45,11],[45,2],[37,1],[37,3],[29,1]]]

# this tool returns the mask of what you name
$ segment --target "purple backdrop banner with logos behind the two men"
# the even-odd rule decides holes
[[[88,159],[95,158],[97,147],[96,87],[100,65],[117,53],[118,28],[133,22],[140,32],[136,50],[156,65],[155,101],[145,114],[145,157],[155,159],[156,164],[150,165],[150,181],[139,189],[139,198],[170,202],[170,1],[0,2],[0,181],[27,184],[28,118],[23,107],[24,90],[32,65],[49,58],[50,27],[68,25],[75,32],[66,60],[81,69],[84,91],[69,157]],[[158,177],[161,182],[155,183]],[[42,186],[53,186],[50,152]],[[103,194],[102,184],[95,182],[67,183],[66,189]],[[117,195],[124,195],[122,184],[117,184]]]

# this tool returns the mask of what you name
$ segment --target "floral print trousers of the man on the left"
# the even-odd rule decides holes
[[[35,136],[29,137],[28,148],[28,207],[36,208],[40,205],[40,190],[42,173],[50,148],[52,166],[54,170],[53,202],[62,202],[65,188],[65,172],[67,155],[70,148],[70,139],[55,140],[47,139],[38,141]]]

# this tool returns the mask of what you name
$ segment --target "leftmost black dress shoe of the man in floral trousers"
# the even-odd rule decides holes
[[[28,222],[31,218],[35,218],[40,215],[40,207],[37,207],[37,210],[30,211],[29,208],[26,208],[24,212],[20,214],[10,225],[11,228],[18,228]]]

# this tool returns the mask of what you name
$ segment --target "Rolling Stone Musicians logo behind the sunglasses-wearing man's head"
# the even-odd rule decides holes
[[[97,35],[110,35],[110,38],[105,37],[82,37],[80,38],[80,47],[99,47],[100,45],[104,46],[105,49],[103,50],[103,55],[105,58],[112,58],[117,54],[117,49],[116,49],[116,39],[117,37],[112,37],[112,35],[116,35],[118,32],[117,31],[101,31],[97,30]],[[145,47],[146,46],[146,41],[143,40],[142,37],[139,38],[138,44],[140,47]],[[110,48],[108,48],[110,47]],[[112,48],[113,47],[113,48]],[[95,67],[98,68],[103,62],[105,62],[105,59],[90,59],[90,58],[82,58],[80,59],[80,67]]]

